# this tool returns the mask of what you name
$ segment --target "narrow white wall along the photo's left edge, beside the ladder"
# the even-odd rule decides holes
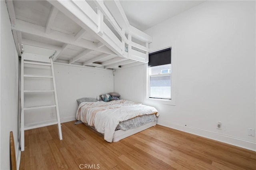
[[[18,53],[11,31],[5,1],[0,1],[0,169],[10,169],[10,131],[13,131],[18,156]]]

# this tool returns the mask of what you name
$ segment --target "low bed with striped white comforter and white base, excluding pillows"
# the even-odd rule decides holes
[[[156,125],[154,107],[127,100],[82,102],[76,119],[104,134],[108,142],[117,142]]]

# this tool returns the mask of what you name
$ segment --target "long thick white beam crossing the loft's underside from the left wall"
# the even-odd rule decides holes
[[[50,40],[54,40],[57,42],[67,43],[70,45],[75,45],[78,47],[91,49],[91,50],[99,51],[102,53],[116,55],[113,51],[108,49],[108,47],[98,48],[97,43],[93,43],[88,40],[83,39],[83,40],[80,40],[79,42],[76,42],[75,37],[72,35],[64,34],[54,30],[52,30],[49,34],[45,34],[44,27],[38,26],[36,24],[28,23],[22,20],[18,20],[18,19],[16,20],[16,25],[12,26],[12,30],[25,32],[25,33],[40,36],[43,38],[48,38]]]

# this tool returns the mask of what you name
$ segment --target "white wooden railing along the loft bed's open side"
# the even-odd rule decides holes
[[[76,36],[89,32],[100,41],[98,47],[106,45],[117,56],[142,63],[148,62],[148,44],[152,42],[152,37],[130,26],[119,1],[114,1],[108,6],[111,12],[103,0],[95,0],[94,4],[88,4],[85,0],[49,0],[48,2],[53,5],[52,11],[57,8],[82,27]],[[74,60],[70,61],[72,62]]]

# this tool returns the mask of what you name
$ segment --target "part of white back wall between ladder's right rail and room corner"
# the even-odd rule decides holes
[[[75,120],[76,99],[93,97],[114,91],[112,70],[73,67],[54,64],[60,119]]]

